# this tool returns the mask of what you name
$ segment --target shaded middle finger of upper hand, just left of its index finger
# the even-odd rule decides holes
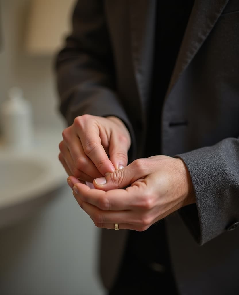
[[[67,147],[69,149],[73,163],[75,167],[79,169],[79,171],[84,172],[92,178],[102,176],[99,170],[95,167],[92,160],[87,155],[85,155],[82,143],[77,134],[74,134],[74,136],[71,137],[71,140],[67,143]]]

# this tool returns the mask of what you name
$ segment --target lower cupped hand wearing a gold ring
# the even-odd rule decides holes
[[[137,231],[195,202],[192,182],[182,160],[168,156],[138,159],[107,177],[95,179],[96,189],[77,183],[73,194],[97,227]],[[120,189],[127,185],[126,189]]]

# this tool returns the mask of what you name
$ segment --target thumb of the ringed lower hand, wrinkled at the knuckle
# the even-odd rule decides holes
[[[145,178],[147,175],[147,169],[144,170],[143,167],[139,168],[139,165],[136,164],[137,161],[139,160],[132,162],[125,168],[114,171],[106,177],[94,179],[94,187],[104,191],[108,191],[110,189],[120,189],[131,185],[136,180]]]

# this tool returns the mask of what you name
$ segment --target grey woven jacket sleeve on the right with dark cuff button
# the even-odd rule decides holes
[[[196,204],[178,213],[200,245],[239,221],[239,139],[177,155],[187,166]]]

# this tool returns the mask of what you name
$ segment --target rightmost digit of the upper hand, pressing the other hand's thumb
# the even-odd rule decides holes
[[[109,145],[109,159],[115,169],[122,169],[128,163],[128,139],[112,133]]]

